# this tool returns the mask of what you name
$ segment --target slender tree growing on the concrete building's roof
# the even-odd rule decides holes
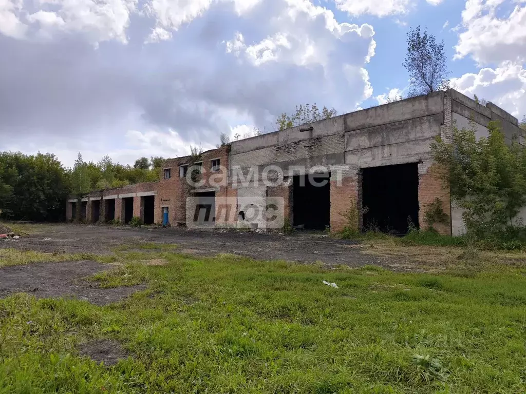
[[[428,95],[449,87],[444,42],[437,43],[436,37],[423,34],[420,26],[407,33],[407,54],[403,67],[409,71],[409,97]]]

